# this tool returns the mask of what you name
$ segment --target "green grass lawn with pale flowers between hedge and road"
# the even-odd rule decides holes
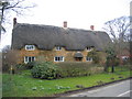
[[[81,85],[85,88],[98,85],[97,81],[109,82],[122,79],[119,77],[130,77],[130,70],[116,68],[116,73],[102,73],[84,77],[70,77],[55,80],[45,80],[32,78],[30,70],[22,72],[21,75],[2,74],[2,95],[3,97],[52,97],[54,94],[61,94],[68,90],[79,89],[76,86]]]

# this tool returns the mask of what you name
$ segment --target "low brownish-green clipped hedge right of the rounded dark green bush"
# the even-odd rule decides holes
[[[57,77],[88,76],[103,70],[103,67],[88,63],[58,63]]]

